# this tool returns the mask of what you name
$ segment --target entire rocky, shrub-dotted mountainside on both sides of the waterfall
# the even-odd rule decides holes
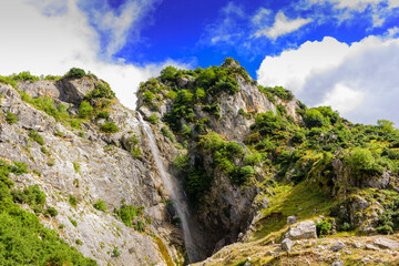
[[[233,59],[164,69],[141,84],[135,112],[79,69],[0,81],[8,204],[99,265],[396,262],[375,243],[395,241],[399,226],[399,132],[389,121],[352,124],[308,109],[284,88],[257,85]],[[1,207],[20,219],[11,205]],[[344,252],[331,252],[338,242]]]

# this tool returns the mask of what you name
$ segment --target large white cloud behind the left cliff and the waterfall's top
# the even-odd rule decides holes
[[[100,37],[75,0],[0,1],[0,74],[31,71],[62,75],[72,66],[82,68],[108,81],[131,109],[135,108],[139,83],[164,65],[101,61]]]

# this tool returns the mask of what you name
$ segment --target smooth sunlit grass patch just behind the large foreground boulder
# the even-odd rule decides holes
[[[295,215],[298,221],[310,219],[319,215],[326,216],[329,208],[334,206],[334,198],[309,190],[305,182],[294,187],[277,186],[274,192],[276,194],[272,197],[272,207],[264,209],[254,241],[260,239],[272,232],[282,231],[287,224],[288,216]],[[318,212],[315,212],[316,208]]]

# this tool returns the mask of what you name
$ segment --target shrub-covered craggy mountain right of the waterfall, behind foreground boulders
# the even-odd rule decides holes
[[[237,241],[280,242],[291,215],[316,221],[319,236],[398,228],[399,132],[389,121],[352,124],[328,106],[308,109],[257,85],[233,59],[164,69],[141,85],[137,109],[184,147],[171,171],[208,255]]]

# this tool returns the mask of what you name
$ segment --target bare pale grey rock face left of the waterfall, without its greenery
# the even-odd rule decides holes
[[[93,78],[19,82],[18,89],[33,98],[50,96],[55,106],[63,103],[70,106],[70,113],[78,113],[83,96],[96,82]],[[10,85],[0,84],[0,157],[29,165],[29,173],[11,178],[20,187],[39,184],[47,194],[47,204],[59,214],[52,218],[41,215],[45,226],[100,265],[166,265],[171,258],[183,262],[181,231],[170,223],[163,200],[167,194],[134,112],[113,100],[108,109],[110,117],[85,120],[75,129],[22,101]],[[18,122],[6,122],[8,112],[16,114]],[[105,121],[113,121],[121,130],[113,134],[100,132]],[[33,140],[32,130],[42,137],[42,144]],[[132,136],[139,140],[141,158],[126,151],[126,140]],[[71,197],[76,200],[75,206],[69,203]],[[106,204],[106,213],[93,207],[99,200]],[[144,207],[140,219],[146,233],[125,226],[113,214],[122,204]],[[114,248],[120,256],[112,256]]]

